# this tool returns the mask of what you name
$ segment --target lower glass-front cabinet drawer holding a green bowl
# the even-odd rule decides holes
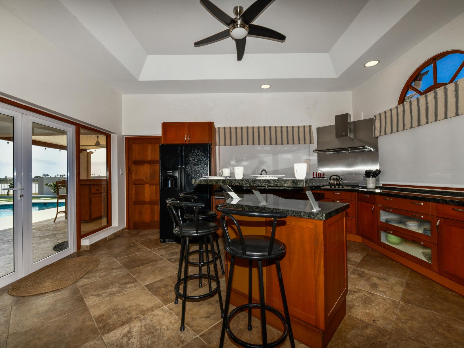
[[[407,234],[378,226],[379,245],[416,264],[438,271],[437,245]]]

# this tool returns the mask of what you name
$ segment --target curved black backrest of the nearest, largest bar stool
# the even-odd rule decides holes
[[[237,216],[249,216],[254,218],[269,218],[272,219],[272,231],[271,231],[271,240],[269,242],[269,249],[267,256],[271,256],[272,248],[274,247],[274,238],[276,234],[276,227],[277,227],[277,219],[285,219],[287,217],[287,213],[280,213],[280,212],[252,212],[249,210],[242,210],[242,209],[233,209],[227,208],[226,203],[218,204],[216,209],[221,212],[221,219],[220,224],[222,226],[222,231],[226,236],[226,247],[228,246],[229,242],[231,241],[229,230],[227,227],[227,220],[230,219],[232,223],[237,227],[238,238],[240,238],[240,245],[242,246],[242,254],[246,255],[246,244],[245,238],[243,238],[242,230],[238,221],[234,218],[234,215]]]

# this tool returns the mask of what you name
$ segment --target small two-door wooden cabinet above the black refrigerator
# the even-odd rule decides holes
[[[163,144],[206,144],[216,143],[214,122],[163,122],[161,123]]]

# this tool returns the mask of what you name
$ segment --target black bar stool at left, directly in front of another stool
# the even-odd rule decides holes
[[[177,283],[174,285],[174,292],[175,292],[175,301],[174,303],[179,303],[179,297],[182,298],[182,317],[180,319],[180,331],[184,331],[185,329],[185,308],[187,304],[187,300],[201,300],[211,296],[214,296],[216,293],[219,297],[219,306],[221,309],[221,317],[224,314],[224,308],[222,306],[222,296],[221,296],[221,287],[219,283],[219,274],[218,274],[218,266],[216,262],[213,261],[214,267],[214,276],[211,274],[210,270],[210,259],[209,259],[209,252],[208,252],[208,239],[210,241],[212,255],[215,255],[214,251],[214,243],[213,243],[213,233],[218,230],[218,226],[213,222],[208,221],[200,221],[198,218],[198,212],[200,208],[204,208],[205,204],[203,203],[192,203],[192,202],[185,202],[183,198],[171,198],[166,200],[168,204],[168,211],[171,215],[171,219],[173,221],[173,232],[174,234],[181,237],[180,242],[180,256],[179,256],[179,270],[177,271]],[[194,221],[193,222],[182,222],[182,210],[185,208],[193,208],[194,210]],[[190,238],[200,238],[205,243],[205,251],[206,251],[206,264],[207,273],[197,273],[188,275],[188,256],[189,252],[189,241]],[[203,254],[203,250],[200,248],[199,257]],[[202,265],[201,262],[202,258],[199,259],[200,267]],[[184,263],[184,277],[181,278],[182,274],[182,263]],[[209,292],[202,295],[187,295],[187,283],[189,279],[199,278],[201,283],[201,278],[208,279],[208,286]],[[211,285],[211,281],[216,282],[216,287],[213,289]],[[180,284],[183,284],[183,291],[180,292],[179,287]]]

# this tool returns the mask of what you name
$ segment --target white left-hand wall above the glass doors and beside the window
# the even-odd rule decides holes
[[[121,94],[1,6],[0,32],[1,94],[119,134],[112,137],[112,212],[113,225],[124,227]]]

